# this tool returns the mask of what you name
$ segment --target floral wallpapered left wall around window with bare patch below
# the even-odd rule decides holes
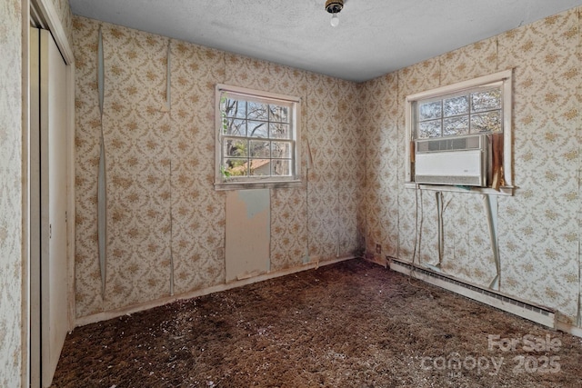
[[[105,298],[96,221],[100,26],[108,201]],[[176,294],[224,283],[226,195],[213,185],[216,84],[302,99],[306,184],[271,190],[271,269],[346,256],[362,244],[358,85],[83,17],[74,16],[73,28],[77,317],[167,296],[172,273]],[[309,150],[314,164],[308,169]]]

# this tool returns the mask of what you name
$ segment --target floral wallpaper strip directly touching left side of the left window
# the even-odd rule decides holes
[[[167,39],[165,40],[167,43]],[[215,84],[225,54],[171,41],[175,293],[224,283],[226,196],[214,190]]]

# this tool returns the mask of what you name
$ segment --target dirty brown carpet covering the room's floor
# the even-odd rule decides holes
[[[78,327],[53,386],[582,387],[582,343],[355,259]]]

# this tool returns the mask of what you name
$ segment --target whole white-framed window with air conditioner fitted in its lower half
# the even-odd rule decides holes
[[[513,194],[512,71],[406,96],[406,182]]]

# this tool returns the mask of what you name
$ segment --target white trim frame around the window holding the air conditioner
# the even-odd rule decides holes
[[[419,188],[426,190],[437,190],[457,193],[480,193],[480,194],[499,194],[499,195],[513,195],[515,186],[513,185],[513,128],[512,128],[512,85],[513,85],[513,70],[504,70],[492,75],[484,75],[471,80],[459,82],[457,84],[437,87],[436,89],[428,90],[426,92],[416,93],[415,95],[406,96],[406,164],[405,164],[405,187]],[[412,105],[416,101],[425,100],[428,98],[437,97],[439,95],[448,95],[455,92],[460,92],[465,89],[475,88],[477,86],[493,85],[502,83],[503,88],[503,172],[505,179],[505,186],[499,188],[499,191],[487,187],[471,187],[469,189],[437,184],[416,184],[412,179],[411,168],[411,149],[414,147],[414,123]]]

